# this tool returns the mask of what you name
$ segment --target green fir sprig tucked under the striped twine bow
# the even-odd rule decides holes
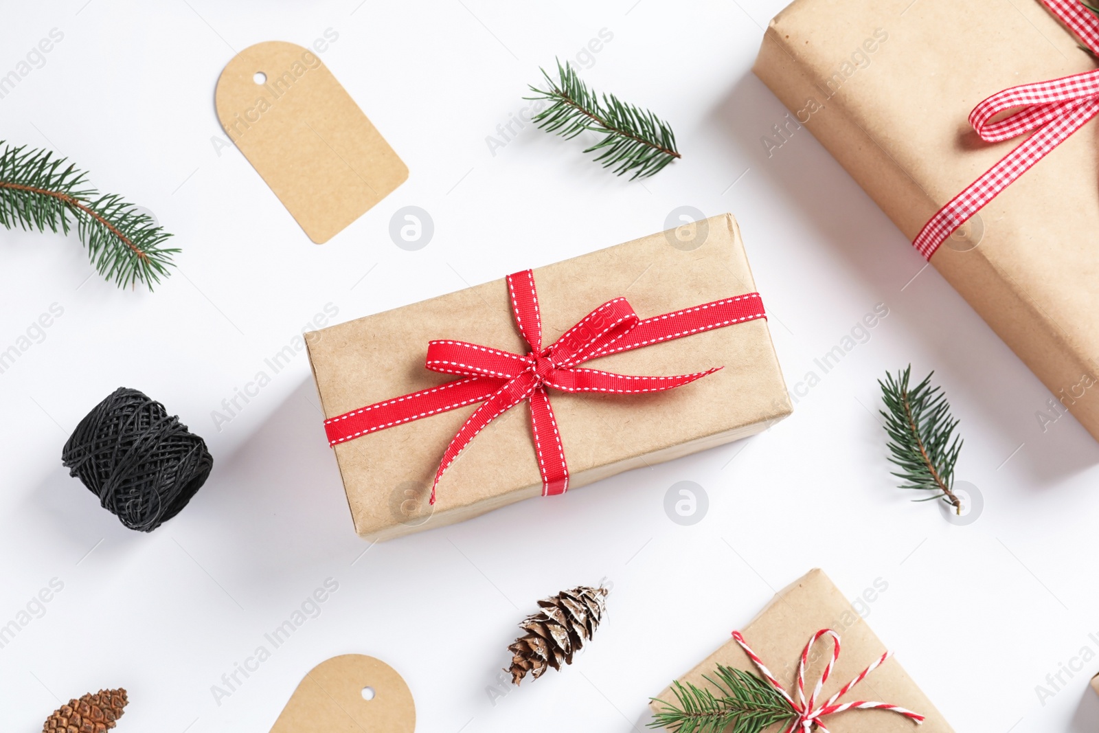
[[[755,675],[719,664],[715,676],[718,679],[706,675],[702,678],[718,695],[691,682],[673,682],[671,691],[679,704],[653,698],[663,707],[654,713],[648,728],[666,728],[675,733],[763,733],[775,723],[797,718],[786,698]]]

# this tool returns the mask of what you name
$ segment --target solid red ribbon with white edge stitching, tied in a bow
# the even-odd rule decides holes
[[[543,348],[534,274],[523,270],[509,275],[508,289],[515,325],[530,346],[526,354],[511,354],[464,341],[429,342],[426,367],[464,378],[325,420],[329,444],[480,402],[443,454],[431,487],[431,503],[435,503],[435,487],[462,449],[492,420],[520,402],[530,401],[542,495],[564,493],[568,489],[568,465],[557,421],[550,407],[548,388],[564,392],[641,395],[680,387],[721,367],[675,377],[631,377],[599,369],[578,369],[577,366],[600,356],[767,318],[757,292],[644,320],[625,298],[615,298],[588,313],[560,338]]]

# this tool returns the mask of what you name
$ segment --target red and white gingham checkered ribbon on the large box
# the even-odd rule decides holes
[[[1089,48],[1099,53],[1099,19],[1078,0],[1042,0]],[[1022,108],[1000,120],[993,116]],[[969,113],[980,138],[998,143],[1036,130],[923,225],[912,244],[928,259],[954,231],[1053,148],[1099,113],[1099,69],[1024,84],[992,95]]]

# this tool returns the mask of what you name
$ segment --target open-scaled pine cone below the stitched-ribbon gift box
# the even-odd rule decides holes
[[[579,586],[539,601],[541,611],[519,624],[524,636],[508,647],[512,653],[511,681],[519,685],[526,673],[541,677],[547,667],[573,664],[573,655],[591,638],[607,610],[607,588]]]

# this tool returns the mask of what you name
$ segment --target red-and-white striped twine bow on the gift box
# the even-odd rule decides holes
[[[813,648],[813,644],[820,640],[821,636],[832,637],[832,659],[824,667],[824,673],[821,678],[817,680],[813,691],[806,698],[806,667],[809,664],[809,652]],[[872,671],[877,669],[886,659],[892,656],[892,652],[886,652],[880,657],[878,657],[874,664],[864,669],[855,679],[851,680],[844,685],[840,690],[830,697],[828,700],[822,702],[820,706],[817,704],[817,698],[821,693],[821,688],[824,687],[824,682],[832,675],[832,667],[835,666],[836,660],[840,658],[840,634],[835,633],[831,629],[822,629],[810,637],[809,643],[806,644],[804,651],[801,653],[801,662],[798,664],[798,701],[795,702],[793,698],[782,688],[782,685],[775,679],[775,676],[770,674],[770,670],[764,665],[763,660],[752,651],[748,643],[744,641],[744,636],[739,631],[733,632],[733,638],[736,643],[741,645],[744,653],[751,657],[752,662],[759,669],[759,674],[763,675],[775,690],[781,695],[787,702],[790,703],[790,709],[797,713],[798,719],[790,724],[790,728],[786,730],[785,733],[809,733],[813,726],[822,731],[822,733],[828,733],[828,729],[824,726],[821,720],[825,715],[834,715],[835,713],[843,712],[845,710],[889,710],[891,712],[904,715],[909,720],[913,721],[917,725],[923,722],[924,717],[920,713],[912,712],[911,710],[906,710],[900,706],[890,704],[888,702],[868,702],[865,700],[857,700],[854,702],[843,702],[836,704],[836,701],[844,695],[851,691],[851,688],[858,685],[861,681],[866,679],[866,676]]]

